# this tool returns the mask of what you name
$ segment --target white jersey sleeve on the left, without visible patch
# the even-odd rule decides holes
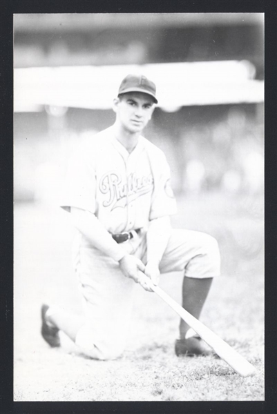
[[[64,210],[77,207],[95,213],[96,179],[92,155],[89,148],[82,148],[70,157],[59,203]]]

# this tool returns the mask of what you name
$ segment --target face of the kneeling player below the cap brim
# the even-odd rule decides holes
[[[119,122],[128,132],[140,132],[151,119],[154,102],[143,92],[128,92],[115,99],[114,110]]]

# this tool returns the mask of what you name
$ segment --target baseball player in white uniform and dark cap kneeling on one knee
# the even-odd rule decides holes
[[[77,228],[75,270],[84,318],[56,306],[41,308],[41,334],[59,346],[63,331],[85,355],[122,355],[131,322],[134,282],[151,290],[161,273],[182,271],[182,306],[199,318],[213,277],[220,272],[213,237],[171,228],[176,205],[164,153],[142,137],[156,88],[143,75],[123,79],[113,101],[115,124],[92,137],[70,161],[62,196]],[[181,320],[176,355],[209,355],[211,348]]]

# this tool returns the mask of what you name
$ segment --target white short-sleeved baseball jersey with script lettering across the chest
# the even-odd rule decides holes
[[[88,210],[110,233],[147,228],[176,212],[164,153],[140,136],[129,153],[113,126],[99,132],[70,160],[61,207]]]

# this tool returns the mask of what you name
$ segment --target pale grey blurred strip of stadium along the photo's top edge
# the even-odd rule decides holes
[[[77,32],[106,28],[185,28],[262,24],[263,13],[41,13],[14,14],[15,32]]]

